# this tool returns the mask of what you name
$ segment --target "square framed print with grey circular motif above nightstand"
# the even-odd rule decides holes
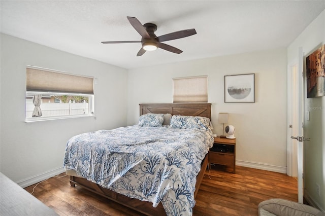
[[[255,74],[224,76],[224,102],[255,102]]]

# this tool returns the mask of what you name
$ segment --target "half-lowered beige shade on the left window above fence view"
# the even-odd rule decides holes
[[[26,91],[93,94],[93,78],[27,67]]]

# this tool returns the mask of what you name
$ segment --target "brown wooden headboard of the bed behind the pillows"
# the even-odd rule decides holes
[[[161,113],[181,116],[202,116],[211,119],[211,103],[140,103],[140,116]]]

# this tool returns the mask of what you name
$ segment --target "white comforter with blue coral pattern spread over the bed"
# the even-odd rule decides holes
[[[197,174],[212,145],[210,129],[99,130],[68,141],[64,168],[154,207],[161,202],[167,215],[192,215]]]

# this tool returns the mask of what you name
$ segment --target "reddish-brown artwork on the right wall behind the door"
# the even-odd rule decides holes
[[[325,45],[306,58],[307,98],[325,96]]]

